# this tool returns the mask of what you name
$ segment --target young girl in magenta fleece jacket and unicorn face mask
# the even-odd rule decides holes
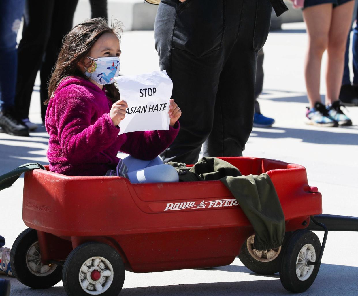
[[[120,31],[118,23],[110,28],[105,20],[95,18],[75,26],[65,37],[45,102],[50,171],[105,175],[117,165],[125,167],[117,158],[121,151],[131,155],[123,162],[128,166],[125,176],[132,182],[178,181],[176,170],[157,157],[179,131],[182,112],[174,100],[170,100],[168,131],[118,135],[128,107],[112,83],[120,69]]]

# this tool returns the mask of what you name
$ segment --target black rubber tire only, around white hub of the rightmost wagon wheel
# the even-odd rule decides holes
[[[321,251],[321,243],[316,234],[306,229],[296,230],[292,233],[282,257],[280,280],[282,286],[290,292],[301,293],[306,291],[313,284],[319,271],[320,264],[314,266],[311,275],[304,281],[299,280],[296,275],[297,257],[305,244],[311,244],[314,247],[317,260]]]

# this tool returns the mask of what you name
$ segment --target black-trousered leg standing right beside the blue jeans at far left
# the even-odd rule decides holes
[[[25,4],[23,35],[18,47],[15,109],[21,119],[29,117],[32,91],[50,35],[55,0]]]

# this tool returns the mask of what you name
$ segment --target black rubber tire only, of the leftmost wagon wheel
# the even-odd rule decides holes
[[[57,267],[47,276],[34,275],[26,264],[26,253],[33,243],[37,242],[37,232],[35,229],[28,228],[20,233],[15,239],[10,252],[10,266],[13,275],[24,285],[43,289],[56,285],[62,278],[62,267]]]

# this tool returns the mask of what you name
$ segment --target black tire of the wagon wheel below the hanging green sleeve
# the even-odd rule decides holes
[[[282,243],[281,246],[280,253],[272,261],[261,262],[255,259],[254,257],[252,257],[247,249],[247,241],[249,238],[242,244],[238,258],[240,259],[243,265],[245,265],[248,269],[250,269],[255,273],[258,273],[260,275],[273,275],[274,273],[280,271],[283,250],[285,249],[287,241],[289,240],[290,237],[291,237],[291,232],[286,232],[284,242]]]

